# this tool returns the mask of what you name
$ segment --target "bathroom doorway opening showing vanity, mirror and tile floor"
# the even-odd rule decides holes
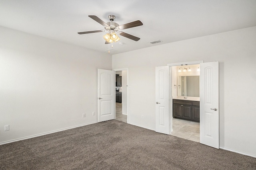
[[[200,64],[172,66],[171,74],[172,102],[170,104],[174,106],[171,111],[173,117],[171,135],[200,142]]]

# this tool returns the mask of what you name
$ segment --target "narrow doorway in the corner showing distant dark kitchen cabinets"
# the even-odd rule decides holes
[[[128,68],[116,72],[115,119],[128,123]]]

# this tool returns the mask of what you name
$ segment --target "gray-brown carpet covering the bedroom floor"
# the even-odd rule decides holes
[[[256,170],[256,158],[111,120],[0,145],[0,169]]]

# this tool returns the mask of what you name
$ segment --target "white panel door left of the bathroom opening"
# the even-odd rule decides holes
[[[156,132],[170,135],[169,66],[156,67]]]

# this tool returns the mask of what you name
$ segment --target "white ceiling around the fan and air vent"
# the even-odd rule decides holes
[[[104,29],[88,15],[108,22],[110,14],[119,25],[143,23],[123,31],[140,40],[120,36],[116,54],[256,26],[256,0],[0,0],[1,26],[105,53],[106,32],[77,32]],[[158,39],[163,42],[148,43]]]

